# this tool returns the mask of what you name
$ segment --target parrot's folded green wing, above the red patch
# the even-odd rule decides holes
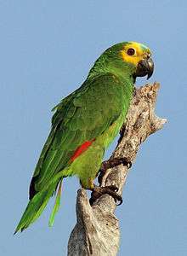
[[[31,180],[30,198],[42,190],[55,173],[68,166],[72,154],[82,143],[98,137],[119,117],[122,84],[120,86],[110,74],[86,80],[55,110],[52,131]]]

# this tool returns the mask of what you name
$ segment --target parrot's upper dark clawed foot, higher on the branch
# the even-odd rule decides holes
[[[119,165],[127,166],[127,168],[129,169],[132,166],[132,162],[127,161],[125,158],[113,158],[111,160],[105,160],[99,169],[99,184],[101,184],[102,178],[104,177],[106,170]]]

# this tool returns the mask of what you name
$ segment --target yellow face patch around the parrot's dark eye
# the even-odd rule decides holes
[[[120,54],[122,55],[123,61],[132,63],[136,67],[139,61],[147,58],[151,55],[150,49],[144,44],[136,42],[129,42],[125,44]]]

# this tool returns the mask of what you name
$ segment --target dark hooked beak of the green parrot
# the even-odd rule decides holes
[[[139,61],[139,64],[134,73],[134,77],[144,77],[147,75],[147,79],[150,79],[152,73],[154,71],[154,62],[150,57]]]

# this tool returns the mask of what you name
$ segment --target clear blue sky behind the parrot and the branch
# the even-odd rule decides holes
[[[65,180],[54,228],[52,203],[13,236],[48,136],[50,109],[82,84],[100,53],[121,41],[150,46],[161,82],[156,112],[168,119],[139,151],[117,208],[119,255],[187,255],[186,1],[0,1],[2,256],[65,255],[79,183]],[[139,79],[144,84],[145,79]],[[108,154],[109,155],[109,154]]]

